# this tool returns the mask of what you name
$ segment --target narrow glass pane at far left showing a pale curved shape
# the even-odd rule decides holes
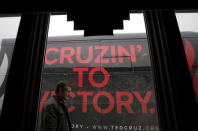
[[[20,17],[0,17],[0,114]]]

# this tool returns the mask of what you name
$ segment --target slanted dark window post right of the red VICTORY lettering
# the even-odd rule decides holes
[[[174,10],[144,11],[162,131],[196,130],[198,104]]]

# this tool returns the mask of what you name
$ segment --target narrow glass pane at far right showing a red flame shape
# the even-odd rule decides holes
[[[198,101],[198,13],[176,13],[176,17]]]

